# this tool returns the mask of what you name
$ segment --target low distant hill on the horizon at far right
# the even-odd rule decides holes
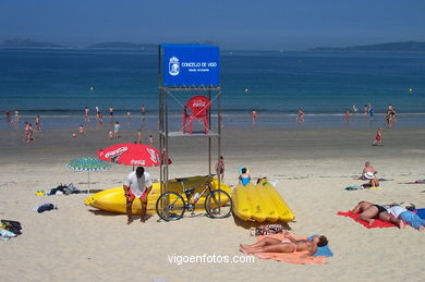
[[[344,48],[317,47],[312,52],[425,52],[425,42],[389,42]]]

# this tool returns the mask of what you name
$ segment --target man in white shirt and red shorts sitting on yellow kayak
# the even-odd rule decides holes
[[[133,222],[132,206],[135,198],[141,199],[142,212],[141,222],[145,222],[147,197],[151,191],[153,182],[149,173],[143,167],[138,167],[136,171],[131,172],[124,183],[123,188],[126,198],[126,224]]]

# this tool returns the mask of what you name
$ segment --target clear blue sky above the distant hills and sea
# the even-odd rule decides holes
[[[424,0],[0,0],[0,40],[214,40],[227,49],[303,50],[425,41]]]

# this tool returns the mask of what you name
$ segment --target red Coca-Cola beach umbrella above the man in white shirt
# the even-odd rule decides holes
[[[161,164],[159,151],[143,144],[118,144],[98,150],[96,154],[100,160],[125,165],[157,167]],[[171,163],[170,159],[168,159],[168,163]]]

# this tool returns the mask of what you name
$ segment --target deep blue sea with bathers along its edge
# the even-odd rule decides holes
[[[305,126],[344,126],[344,111],[356,105],[361,113],[352,114],[352,126],[368,126],[364,105],[373,105],[380,122],[391,103],[399,126],[425,125],[425,53],[222,51],[220,82],[228,124],[248,124],[256,109],[258,124],[292,127],[302,108]],[[172,117],[180,119],[180,103],[191,95],[173,93]],[[94,113],[96,106],[105,117],[113,107],[116,117],[124,119],[127,111],[139,117],[145,105],[147,117],[155,120],[158,54],[0,50],[0,105],[2,112],[19,109],[21,120],[34,121],[39,114],[51,127],[82,120],[84,108]]]

